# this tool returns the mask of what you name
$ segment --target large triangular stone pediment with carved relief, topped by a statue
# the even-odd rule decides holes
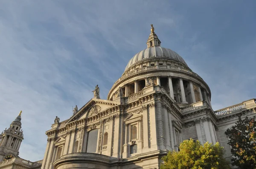
[[[120,103],[116,101],[102,100],[96,98],[90,99],[90,101],[84,104],[84,106],[81,107],[81,109],[79,109],[77,113],[75,113],[67,121],[67,123],[96,115],[97,113],[105,111],[106,109],[116,106],[118,104]]]

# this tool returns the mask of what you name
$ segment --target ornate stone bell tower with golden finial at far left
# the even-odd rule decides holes
[[[23,138],[21,130],[21,113],[10,124],[9,129],[5,129],[0,134],[0,161],[16,158],[19,155],[20,144]]]

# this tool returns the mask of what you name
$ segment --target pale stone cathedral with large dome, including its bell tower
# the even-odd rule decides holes
[[[93,94],[69,119],[55,118],[42,161],[18,157],[19,115],[0,135],[0,169],[159,169],[161,157],[189,138],[219,142],[230,160],[224,132],[240,113],[256,116],[256,99],[212,110],[207,83],[180,55],[161,47],[153,25],[147,48],[130,59],[107,100],[100,99],[98,85]]]

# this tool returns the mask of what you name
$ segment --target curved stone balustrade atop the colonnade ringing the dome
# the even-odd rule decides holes
[[[160,69],[160,70],[166,70],[166,69],[167,70],[179,70],[179,71],[182,71],[182,72],[190,73],[190,74],[192,74],[194,76],[197,76],[198,78],[202,79],[200,76],[198,76],[197,73],[194,73],[191,70],[188,70],[188,69],[185,69],[185,68],[180,68],[180,67],[177,67],[177,66],[170,66],[170,65],[155,65],[155,66],[147,66],[147,67],[138,68],[136,70],[129,71],[129,72],[123,74],[122,77],[120,77],[114,83],[113,86],[115,86],[118,82],[120,82],[122,79],[127,78],[128,76],[131,76],[131,75],[134,75],[136,73],[143,72],[143,71],[147,71],[147,70],[157,70],[157,69]]]

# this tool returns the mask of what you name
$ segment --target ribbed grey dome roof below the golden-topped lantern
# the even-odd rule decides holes
[[[188,66],[184,59],[177,54],[175,51],[172,51],[171,49],[168,48],[162,48],[160,46],[152,46],[150,48],[146,48],[143,51],[140,51],[139,53],[135,54],[131,60],[128,62],[125,70],[130,68],[132,65],[135,63],[143,60],[143,59],[148,59],[148,58],[154,58],[154,57],[166,57],[173,59],[175,61],[181,62],[184,65]]]

